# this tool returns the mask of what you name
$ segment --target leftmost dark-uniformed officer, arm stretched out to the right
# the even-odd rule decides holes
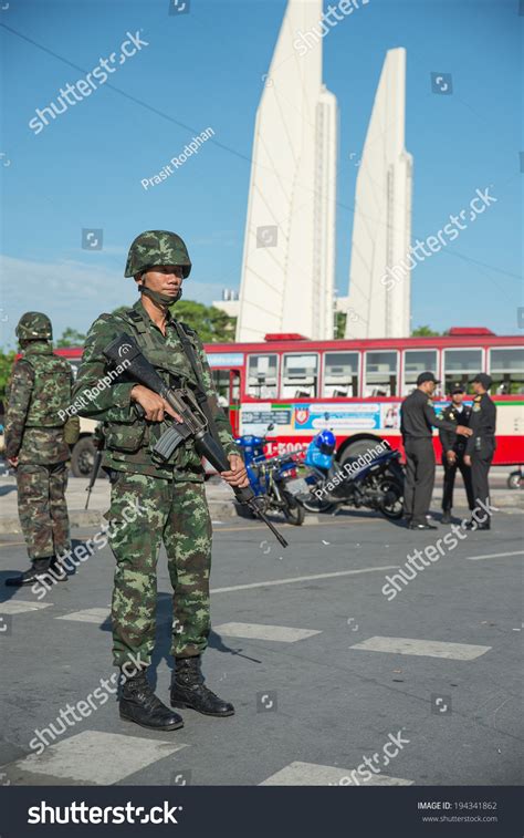
[[[431,396],[438,383],[432,372],[420,373],[417,390],[405,399],[400,408],[400,431],[406,451],[404,511],[409,529],[437,529],[426,518],[434,483],[432,426],[465,436],[471,434],[463,425],[436,414]]]

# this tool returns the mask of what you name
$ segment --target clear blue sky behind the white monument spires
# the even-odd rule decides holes
[[[209,303],[222,288],[238,289],[254,116],[285,0],[190,0],[184,14],[169,14],[168,0],[0,6],[8,7],[0,10],[0,345],[14,345],[15,323],[29,309],[46,311],[60,335],[67,325],[86,331],[101,311],[133,302],[134,282],[123,273],[143,229],[174,229],[187,240],[195,266],[187,299]],[[369,0],[325,37],[324,80],[340,111],[340,296],[373,97],[386,51],[406,46],[413,240],[468,207],[476,188],[496,197],[413,270],[413,325],[518,333],[523,21],[517,0]],[[148,45],[39,134],[31,130],[35,108],[119,53],[126,32]],[[431,72],[452,74],[452,95],[431,92]],[[214,137],[199,154],[146,192],[140,180],[208,126]],[[102,250],[81,247],[83,228],[103,229]]]

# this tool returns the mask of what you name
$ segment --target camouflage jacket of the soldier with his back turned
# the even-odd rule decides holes
[[[31,341],[13,366],[7,392],[6,456],[45,465],[70,458],[64,442],[65,411],[73,373],[48,341]],[[61,413],[62,412],[62,416]]]

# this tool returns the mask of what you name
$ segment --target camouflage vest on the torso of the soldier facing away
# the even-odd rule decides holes
[[[25,427],[63,427],[67,418],[65,411],[72,399],[70,364],[52,352],[29,352],[23,361],[34,372]]]

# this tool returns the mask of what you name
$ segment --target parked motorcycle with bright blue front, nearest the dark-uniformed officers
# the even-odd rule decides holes
[[[339,506],[367,507],[397,520],[404,514],[404,470],[398,451],[385,448],[369,463],[349,457],[340,467],[335,463],[336,437],[322,431],[310,444],[297,479],[289,490],[311,513],[333,513]]]

